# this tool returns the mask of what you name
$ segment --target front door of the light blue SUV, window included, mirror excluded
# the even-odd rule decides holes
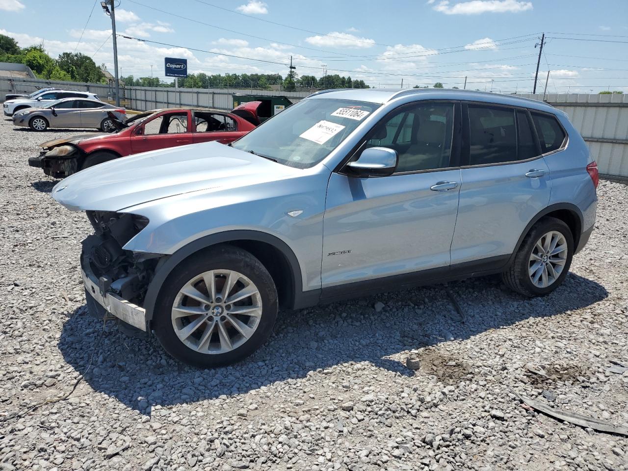
[[[384,117],[360,149],[396,150],[393,175],[332,174],[323,218],[323,289],[448,268],[460,190],[453,139],[459,109],[422,101]]]

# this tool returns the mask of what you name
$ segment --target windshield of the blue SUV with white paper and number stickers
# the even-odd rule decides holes
[[[356,100],[301,100],[232,146],[283,165],[308,168],[327,157],[379,106]]]

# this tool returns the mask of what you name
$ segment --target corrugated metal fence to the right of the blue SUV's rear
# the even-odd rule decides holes
[[[542,100],[543,95],[522,95]],[[628,95],[545,95],[569,116],[597,161],[600,173],[628,178]]]

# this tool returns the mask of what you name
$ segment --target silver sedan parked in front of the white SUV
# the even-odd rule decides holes
[[[116,130],[109,112],[118,118],[126,117],[126,110],[97,100],[65,98],[41,108],[27,108],[13,115],[15,126],[28,126],[33,131],[48,127],[93,127],[111,133]]]

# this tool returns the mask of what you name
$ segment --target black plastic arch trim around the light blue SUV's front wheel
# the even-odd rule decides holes
[[[318,303],[320,290],[303,291],[303,278],[301,277],[301,266],[296,258],[295,252],[292,251],[286,242],[276,236],[266,232],[257,230],[227,230],[218,234],[210,234],[209,236],[200,237],[190,242],[186,246],[181,247],[174,254],[163,257],[163,262],[158,264],[154,277],[148,285],[146,296],[144,296],[144,310],[146,317],[150,322],[153,318],[154,307],[161,290],[161,286],[168,278],[173,269],[178,266],[184,259],[195,254],[198,251],[207,249],[217,244],[224,244],[235,241],[257,241],[270,244],[278,249],[290,267],[290,279],[292,286],[290,287],[290,295],[288,298],[288,307],[299,309],[305,306],[311,306]]]

